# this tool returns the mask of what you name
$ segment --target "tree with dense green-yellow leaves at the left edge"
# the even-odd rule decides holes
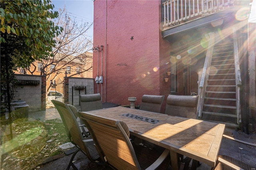
[[[6,89],[10,114],[10,85],[15,81],[13,70],[27,67],[35,60],[45,59],[49,55],[53,56],[54,38],[61,33],[62,28],[51,21],[58,17],[58,12],[51,11],[54,6],[50,0],[0,2],[1,96],[2,89]]]

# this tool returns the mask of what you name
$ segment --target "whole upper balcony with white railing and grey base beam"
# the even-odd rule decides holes
[[[175,34],[193,28],[210,25],[214,22],[229,22],[234,18],[234,0],[166,0],[162,3],[162,35],[175,37]],[[238,8],[236,8],[238,9]],[[167,38],[168,39],[168,38]]]

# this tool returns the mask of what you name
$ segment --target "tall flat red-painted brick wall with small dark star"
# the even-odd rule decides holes
[[[160,15],[160,1],[94,1],[94,45],[103,45],[103,51],[99,59],[94,53],[93,77],[98,72],[104,76],[103,84],[94,84],[94,93],[101,93],[103,102],[128,105],[128,97],[137,97],[138,105],[144,94],[168,93],[162,66],[170,54],[160,53],[160,46],[168,47],[162,40]],[[160,55],[165,59],[160,61]]]

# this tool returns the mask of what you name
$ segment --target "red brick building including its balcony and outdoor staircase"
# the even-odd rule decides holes
[[[144,94],[195,92],[199,119],[246,127],[249,9],[248,0],[95,0],[94,93],[140,105]]]

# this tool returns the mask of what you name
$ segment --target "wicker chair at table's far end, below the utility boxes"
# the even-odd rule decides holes
[[[97,94],[89,94],[89,95],[79,95],[79,103],[82,112],[92,111],[102,109],[102,101],[100,93]],[[80,124],[83,125],[80,120]],[[82,127],[82,131],[84,136],[90,136],[90,133],[86,129],[86,127]]]

